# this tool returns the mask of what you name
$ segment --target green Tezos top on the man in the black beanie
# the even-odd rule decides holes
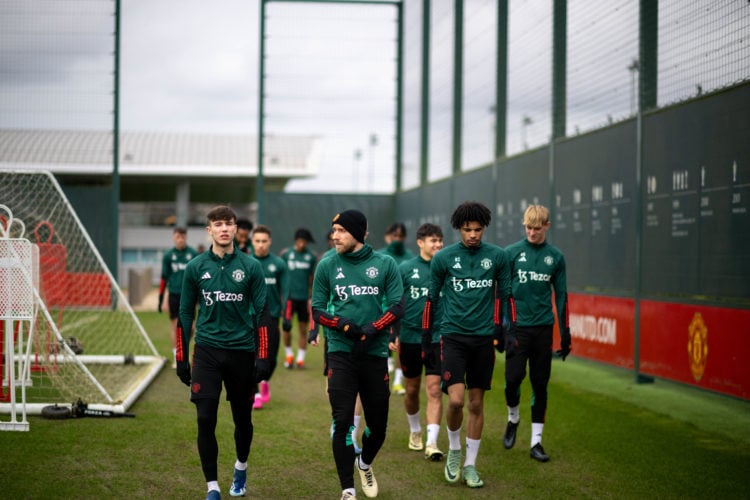
[[[365,244],[357,252],[336,253],[320,261],[313,281],[312,308],[364,326],[380,318],[403,294],[396,262]],[[368,354],[388,357],[388,330],[372,342]],[[328,352],[352,351],[354,342],[343,333],[326,333]]]

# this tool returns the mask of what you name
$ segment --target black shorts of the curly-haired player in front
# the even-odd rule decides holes
[[[444,390],[459,383],[469,389],[491,389],[495,369],[492,335],[443,335],[441,346]]]

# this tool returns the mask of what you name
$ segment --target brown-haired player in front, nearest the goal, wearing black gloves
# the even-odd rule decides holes
[[[188,263],[180,297],[177,375],[190,387],[198,420],[198,454],[208,500],[221,498],[216,422],[222,383],[234,420],[237,459],[229,494],[246,491],[253,441],[252,399],[257,380],[268,379],[266,282],[257,260],[234,246],[237,217],[226,206],[207,214],[211,248]],[[192,373],[190,328],[198,305]]]

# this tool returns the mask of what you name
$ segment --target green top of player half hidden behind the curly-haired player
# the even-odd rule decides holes
[[[422,342],[422,313],[430,291],[430,261],[416,256],[398,266],[404,285],[404,317],[401,318],[399,341],[406,344]],[[440,312],[433,316],[432,342],[440,341]]]

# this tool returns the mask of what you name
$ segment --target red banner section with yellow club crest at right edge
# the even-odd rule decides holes
[[[641,302],[640,371],[750,398],[750,311]]]

